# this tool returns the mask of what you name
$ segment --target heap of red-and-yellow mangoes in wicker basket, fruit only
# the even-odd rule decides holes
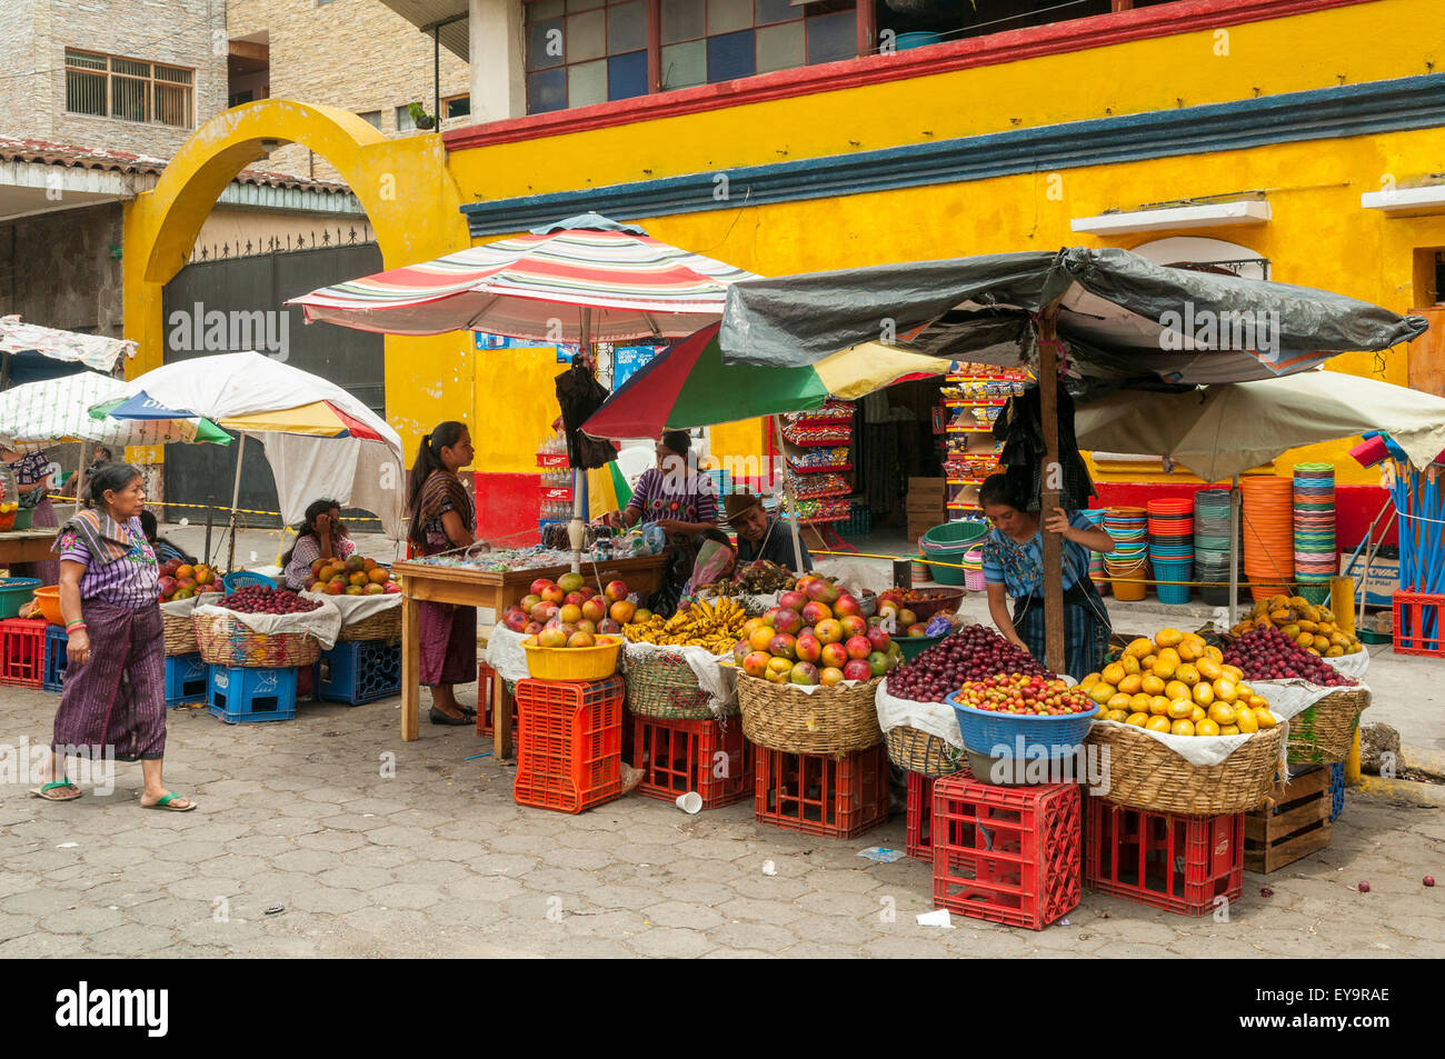
[[[818,576],[798,579],[777,605],[749,618],[733,649],[743,672],[773,683],[871,680],[903,662],[881,615],[864,618],[858,600]]]

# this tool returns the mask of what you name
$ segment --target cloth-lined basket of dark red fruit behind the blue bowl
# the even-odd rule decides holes
[[[959,771],[965,747],[948,696],[964,682],[1006,672],[1045,670],[991,628],[964,626],[889,673],[876,705],[893,764],[935,779]]]

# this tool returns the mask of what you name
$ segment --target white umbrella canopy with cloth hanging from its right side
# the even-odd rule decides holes
[[[327,497],[374,511],[393,540],[405,535],[402,439],[335,383],[259,353],[224,353],[147,371],[120,396],[118,407],[104,402],[91,415],[149,418],[185,410],[260,441],[288,523],[299,522],[312,500]]]

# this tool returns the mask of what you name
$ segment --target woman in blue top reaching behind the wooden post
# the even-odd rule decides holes
[[[1090,579],[1090,552],[1113,552],[1114,539],[1077,511],[1055,509],[1048,519],[1025,510],[1001,474],[978,490],[978,503],[994,524],[984,543],[988,614],[1009,643],[1043,660],[1043,535],[1064,537],[1064,672],[1082,680],[1098,669],[1113,631],[1104,601]],[[1006,597],[1014,598],[1013,615]]]

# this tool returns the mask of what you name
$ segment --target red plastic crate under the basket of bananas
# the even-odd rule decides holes
[[[741,802],[753,793],[753,744],[743,725],[721,721],[633,718],[634,769],[643,770],[637,792],[675,802],[696,790],[704,809]]]

